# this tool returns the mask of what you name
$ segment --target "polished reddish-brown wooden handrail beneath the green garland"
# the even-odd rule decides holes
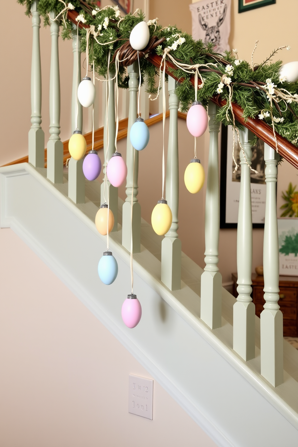
[[[76,11],[68,11],[67,17],[70,21],[72,21],[75,25],[77,25],[76,17],[78,13]],[[82,25],[81,22],[79,23],[80,28],[88,28],[89,25]],[[161,56],[158,56],[156,54],[149,54],[148,60],[155,65],[155,67],[159,68],[161,63]],[[174,79],[178,80],[175,76],[173,76],[172,70],[175,70],[176,67],[171,63],[166,61],[166,73],[170,76],[172,76]],[[181,81],[181,79],[179,79]],[[191,83],[194,86],[194,76],[190,79]],[[198,80],[200,83],[201,81]],[[213,101],[216,105],[219,107],[222,107],[223,105],[227,104],[227,101],[222,100],[219,95],[214,96],[211,98],[211,101]],[[247,127],[250,131],[252,131],[257,137],[262,139],[265,143],[269,144],[269,146],[273,149],[276,149],[275,139],[273,135],[273,129],[268,124],[266,124],[264,121],[261,121],[259,118],[247,118],[245,120],[243,118],[243,110],[238,104],[232,103],[233,111],[235,114],[236,120],[243,124],[243,126]],[[298,169],[298,148],[294,146],[294,144],[290,143],[290,141],[283,138],[281,135],[279,135],[277,132],[276,139],[277,139],[277,148],[279,154],[285,158],[290,164],[293,164],[296,169]]]

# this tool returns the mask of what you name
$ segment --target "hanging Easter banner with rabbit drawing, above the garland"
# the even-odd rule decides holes
[[[214,43],[214,51],[230,50],[231,0],[201,0],[190,4],[195,40]]]

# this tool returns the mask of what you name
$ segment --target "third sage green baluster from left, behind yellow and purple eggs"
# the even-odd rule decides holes
[[[73,75],[71,95],[71,135],[78,129],[83,128],[82,105],[77,100],[77,88],[81,82],[81,51],[80,36],[77,38],[76,25],[72,25],[72,52],[73,52]],[[78,117],[77,117],[78,115]],[[71,157],[68,162],[68,197],[75,203],[85,202],[85,176],[83,174],[83,161]]]

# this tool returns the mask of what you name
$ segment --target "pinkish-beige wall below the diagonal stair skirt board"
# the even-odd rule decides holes
[[[10,229],[0,229],[1,447],[215,447],[154,381],[153,421],[128,413],[151,378]]]

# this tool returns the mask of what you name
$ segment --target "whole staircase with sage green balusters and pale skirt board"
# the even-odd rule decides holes
[[[298,445],[298,352],[282,338],[282,315],[278,300],[278,246],[276,181],[277,154],[272,131],[256,120],[247,124],[265,140],[266,216],[264,229],[265,300],[261,319],[255,316],[250,299],[252,232],[250,177],[242,169],[237,245],[239,253],[238,292],[235,299],[222,288],[218,271],[219,169],[216,105],[210,101],[210,152],[206,191],[206,266],[197,266],[181,252],[178,234],[178,112],[175,95],[177,80],[169,77],[169,142],[166,197],[173,223],[165,237],[157,236],[151,225],[140,218],[137,199],[138,175],[133,175],[134,148],[127,141],[126,200],[108,185],[110,208],[115,226],[110,233],[110,249],[118,262],[116,281],[105,286],[97,274],[97,264],[106,249],[106,238],[95,227],[95,215],[104,202],[103,185],[85,181],[82,160],[70,160],[67,142],[59,138],[59,27],[50,25],[52,59],[50,94],[51,137],[42,139],[40,110],[39,24],[36,1],[32,5],[34,42],[32,78],[32,127],[29,131],[29,162],[0,168],[0,226],[12,228],[50,267],[80,301],[101,321],[123,346],[146,368],[164,389],[185,409],[218,446],[296,447]],[[76,34],[73,45],[76,48]],[[54,56],[53,56],[54,55]],[[76,57],[76,52],[74,52]],[[151,56],[149,56],[151,57]],[[157,56],[156,56],[157,57]],[[152,63],[160,63],[152,57]],[[76,59],[74,59],[76,62]],[[73,89],[76,97],[74,63]],[[125,138],[136,118],[138,71],[128,67],[130,109],[122,120],[118,139]],[[108,120],[96,132],[95,148],[104,147],[109,159],[115,150],[114,81],[109,80]],[[76,101],[72,112],[75,115]],[[236,107],[236,106],[235,106]],[[238,110],[239,112],[239,110]],[[240,114],[240,112],[239,112]],[[158,122],[160,115],[147,119]],[[238,118],[237,118],[238,119]],[[239,118],[240,120],[240,118]],[[74,123],[73,123],[74,126]],[[109,130],[109,146],[105,134]],[[151,129],[154,132],[154,127]],[[267,133],[266,133],[267,132]],[[271,132],[271,133],[270,133]],[[266,136],[267,135],[267,136]],[[92,135],[86,135],[90,148]],[[251,147],[248,130],[241,132],[246,158]],[[277,135],[281,152],[295,165],[295,148]],[[87,149],[88,150],[88,149]],[[249,152],[250,151],[250,152]],[[136,166],[138,163],[136,157]],[[24,161],[24,160],[17,160]],[[45,166],[46,161],[46,168]],[[107,160],[104,160],[104,169]],[[247,169],[248,166],[247,166]],[[206,169],[207,170],[207,169]],[[105,172],[105,171],[104,171]],[[138,169],[136,169],[138,174]],[[133,200],[131,193],[133,190]],[[121,319],[121,306],[130,292],[130,213],[133,208],[134,289],[143,314],[135,329]],[[67,236],[66,236],[67,235]],[[139,236],[140,235],[140,236]],[[129,241],[129,243],[127,242]],[[180,247],[180,249],[179,249]],[[277,272],[277,273],[276,273]],[[178,284],[178,285],[177,285]]]

